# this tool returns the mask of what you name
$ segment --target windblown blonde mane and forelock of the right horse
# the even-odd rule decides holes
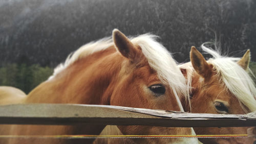
[[[214,66],[214,69],[217,71],[217,76],[220,78],[220,82],[223,82],[223,86],[225,86],[240,101],[240,103],[244,104],[250,111],[255,111],[256,88],[251,78],[253,74],[250,69],[246,71],[238,65],[237,62],[241,58],[221,56],[219,54],[220,51],[217,52],[209,49],[204,46],[204,44],[202,44],[201,47],[206,54],[212,56],[207,62]],[[191,87],[192,75],[193,73],[196,73],[191,62],[180,65],[180,68],[187,70],[187,85]],[[249,73],[251,73],[251,76]],[[241,105],[241,107],[243,108],[243,105]]]

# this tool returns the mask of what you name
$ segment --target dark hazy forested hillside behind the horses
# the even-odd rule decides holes
[[[28,93],[68,54],[114,28],[158,35],[178,62],[207,41],[229,56],[250,49],[256,61],[255,0],[0,0],[0,85]]]

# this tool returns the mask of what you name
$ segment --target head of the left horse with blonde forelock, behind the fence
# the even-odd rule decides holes
[[[153,40],[129,40],[118,30],[113,31],[113,41],[122,56],[122,66],[115,81],[110,104],[137,108],[182,110],[177,95],[182,91],[174,84],[174,75],[181,82],[178,71],[169,75],[170,67],[176,69],[174,60],[162,46]],[[155,46],[155,47],[154,47]],[[153,54],[154,53],[154,54]],[[165,59],[163,59],[165,58]],[[169,61],[166,61],[169,60]],[[163,67],[162,65],[166,65]],[[173,80],[173,81],[171,81]],[[181,85],[182,83],[177,83]],[[180,87],[181,87],[180,86]],[[191,134],[190,128],[164,128],[150,126],[118,126],[123,134],[164,135]],[[188,139],[187,139],[188,140]],[[135,142],[182,142],[183,139],[134,139]]]

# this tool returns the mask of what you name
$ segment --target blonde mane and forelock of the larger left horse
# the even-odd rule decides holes
[[[129,38],[135,45],[139,45],[142,53],[146,57],[148,64],[157,71],[159,79],[172,87],[176,95],[177,102],[181,110],[183,110],[178,95],[186,94],[187,86],[185,85],[185,78],[182,75],[177,62],[172,55],[165,49],[165,47],[156,41],[157,36],[152,34],[144,34],[138,37]],[[81,46],[73,54],[70,54],[64,63],[59,64],[55,69],[53,75],[48,79],[51,80],[60,73],[63,69],[75,61],[89,56],[95,52],[103,51],[114,45],[111,37],[103,38],[95,42],[90,42]]]

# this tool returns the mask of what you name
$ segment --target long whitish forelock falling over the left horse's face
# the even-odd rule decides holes
[[[179,107],[181,111],[184,111],[179,95],[186,94],[185,78],[172,55],[155,40],[156,38],[155,35],[144,34],[131,41],[141,47],[148,64],[157,71],[159,79],[173,89]]]

